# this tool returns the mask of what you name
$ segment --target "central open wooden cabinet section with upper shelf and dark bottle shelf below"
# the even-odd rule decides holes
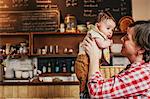
[[[78,45],[85,35],[86,33],[32,32],[31,56],[38,58],[38,69],[43,73],[40,76],[67,76],[68,73],[71,76],[74,73],[72,66],[78,54]]]

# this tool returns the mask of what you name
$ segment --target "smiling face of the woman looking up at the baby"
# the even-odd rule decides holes
[[[133,57],[136,58],[137,51],[139,49],[135,41],[133,40],[134,34],[134,28],[128,28],[127,34],[121,38],[121,41],[123,43],[121,53],[129,59]]]

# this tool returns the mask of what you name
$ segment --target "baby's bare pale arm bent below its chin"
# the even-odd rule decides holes
[[[95,42],[99,48],[107,48],[113,44],[113,40],[110,39],[102,40],[100,38],[95,38]]]

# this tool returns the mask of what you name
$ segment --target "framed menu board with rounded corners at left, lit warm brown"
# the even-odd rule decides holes
[[[57,10],[1,11],[0,32],[58,31]]]

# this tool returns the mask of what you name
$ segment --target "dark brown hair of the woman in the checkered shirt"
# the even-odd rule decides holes
[[[143,59],[146,62],[150,61],[150,21],[136,21],[129,27],[134,27],[135,36],[133,40],[145,49]]]

